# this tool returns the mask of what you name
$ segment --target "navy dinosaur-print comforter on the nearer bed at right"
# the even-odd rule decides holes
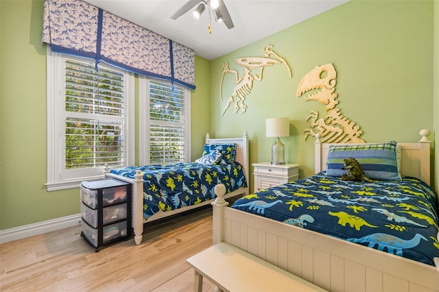
[[[346,182],[324,172],[237,199],[232,208],[420,263],[439,257],[436,195],[424,182]]]

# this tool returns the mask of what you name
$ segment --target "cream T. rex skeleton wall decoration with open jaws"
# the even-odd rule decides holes
[[[327,143],[364,143],[359,138],[363,132],[359,126],[348,118],[343,117],[340,108],[336,108],[338,101],[335,91],[337,73],[332,63],[316,66],[302,77],[297,88],[297,97],[311,91],[305,101],[315,100],[326,105],[327,115],[319,119],[318,112],[311,110],[307,121],[311,128],[305,129],[305,140],[309,136],[320,134],[320,140]]]

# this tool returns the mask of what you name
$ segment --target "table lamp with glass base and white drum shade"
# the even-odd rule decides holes
[[[280,137],[289,136],[288,118],[266,119],[265,136],[276,137],[276,141],[272,145],[272,165],[285,165],[285,146]]]

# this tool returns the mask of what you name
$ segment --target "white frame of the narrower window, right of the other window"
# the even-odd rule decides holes
[[[154,78],[139,76],[139,164],[150,165],[150,80]],[[171,84],[166,80],[158,80]],[[185,88],[185,162],[191,160],[191,90]]]

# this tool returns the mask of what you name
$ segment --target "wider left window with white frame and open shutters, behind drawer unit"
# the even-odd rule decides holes
[[[102,178],[134,164],[134,76],[84,58],[47,53],[47,188]]]

